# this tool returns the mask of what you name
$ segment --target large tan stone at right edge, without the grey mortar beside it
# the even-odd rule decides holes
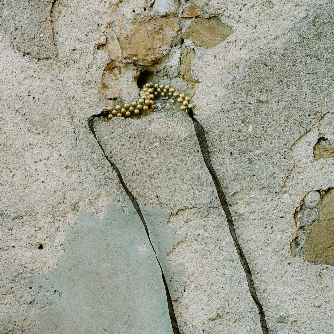
[[[319,216],[310,227],[302,257],[311,263],[334,266],[334,188],[321,201]]]

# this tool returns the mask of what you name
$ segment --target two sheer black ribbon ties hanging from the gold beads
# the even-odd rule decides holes
[[[258,308],[259,315],[260,315],[261,328],[262,328],[263,334],[269,334],[267,323],[266,323],[266,318],[265,318],[265,313],[263,311],[262,305],[260,304],[260,301],[259,301],[258,296],[256,294],[256,290],[255,290],[255,286],[254,286],[254,282],[253,282],[253,277],[252,277],[251,269],[249,268],[248,262],[247,262],[245,256],[243,255],[242,249],[241,249],[241,247],[239,245],[238,239],[237,239],[236,234],[235,234],[235,228],[234,228],[232,216],[231,216],[231,213],[230,213],[230,210],[228,208],[228,204],[227,204],[227,201],[226,201],[226,198],[225,198],[225,194],[223,192],[223,189],[222,189],[222,187],[220,185],[219,179],[218,179],[218,177],[217,177],[217,175],[216,175],[216,173],[215,173],[215,171],[213,169],[212,163],[211,163],[211,159],[210,159],[210,155],[209,155],[209,149],[208,149],[208,145],[207,145],[207,141],[206,141],[206,137],[205,137],[205,133],[204,133],[203,127],[194,118],[192,110],[187,109],[187,112],[188,112],[188,115],[189,115],[189,117],[191,118],[191,120],[192,120],[192,122],[194,124],[196,136],[197,136],[197,139],[198,139],[198,143],[199,143],[199,146],[200,146],[200,149],[201,149],[201,152],[202,152],[202,156],[203,156],[205,165],[206,165],[207,169],[210,172],[210,175],[212,177],[212,180],[213,180],[214,185],[215,185],[216,190],[217,190],[217,194],[218,194],[221,206],[222,206],[222,208],[223,208],[223,210],[225,212],[227,224],[228,224],[231,236],[233,238],[234,246],[235,246],[236,251],[238,253],[238,256],[239,256],[242,268],[243,268],[243,270],[246,273],[246,279],[247,279],[247,283],[248,283],[249,292],[251,293],[251,296],[253,297],[253,300],[254,300],[257,308]],[[138,205],[138,202],[137,202],[136,198],[133,196],[133,194],[131,193],[131,191],[129,190],[129,188],[126,186],[126,184],[125,184],[125,182],[124,182],[124,180],[122,178],[122,175],[121,175],[119,169],[107,157],[107,155],[106,155],[106,153],[105,153],[102,145],[100,144],[100,142],[98,141],[98,139],[96,137],[96,133],[95,133],[95,130],[94,130],[94,124],[93,124],[94,119],[98,118],[98,117],[105,117],[105,116],[106,115],[103,112],[101,112],[98,115],[92,115],[88,119],[88,126],[89,126],[91,132],[93,133],[96,141],[98,142],[99,146],[101,147],[104,156],[106,157],[106,159],[109,161],[109,163],[111,164],[111,166],[115,170],[115,172],[116,172],[116,174],[117,174],[117,176],[118,176],[118,178],[119,178],[119,180],[120,180],[120,182],[121,182],[121,184],[122,184],[125,192],[129,196],[129,198],[130,198],[130,200],[131,200],[134,208],[136,209],[136,211],[137,211],[137,213],[138,213],[138,215],[139,215],[139,217],[140,217],[140,219],[141,219],[141,221],[142,221],[142,223],[144,225],[147,237],[148,237],[148,239],[150,241],[150,244],[152,246],[152,249],[154,251],[155,257],[156,257],[156,259],[158,261],[158,264],[159,264],[159,267],[160,267],[160,270],[161,270],[162,281],[164,283],[165,290],[166,290],[168,312],[169,312],[169,317],[170,317],[170,321],[171,321],[171,325],[172,325],[172,329],[173,329],[173,334],[179,334],[180,331],[179,331],[179,327],[178,327],[178,324],[177,324],[177,321],[176,321],[175,312],[174,312],[174,308],[173,308],[173,303],[172,303],[172,299],[171,299],[171,296],[170,296],[170,293],[169,293],[169,290],[168,290],[166,278],[165,278],[165,275],[163,273],[163,270],[162,270],[161,264],[159,262],[159,259],[157,257],[157,254],[155,252],[154,246],[152,244],[152,241],[151,241],[148,229],[147,229],[147,225],[146,225],[145,219],[143,217],[143,214],[142,214],[142,212],[140,210],[140,207]]]

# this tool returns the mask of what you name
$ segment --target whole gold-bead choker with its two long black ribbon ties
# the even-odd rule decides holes
[[[125,192],[127,193],[127,195],[129,196],[134,208],[136,209],[147,234],[147,237],[150,241],[150,244],[152,246],[152,249],[155,253],[156,259],[158,261],[160,270],[161,270],[161,276],[162,276],[162,280],[164,283],[164,287],[166,290],[166,298],[167,298],[167,304],[168,304],[168,312],[169,312],[169,317],[171,320],[171,325],[172,325],[172,329],[173,329],[173,334],[179,334],[179,327],[177,324],[177,320],[176,320],[176,316],[175,316],[175,312],[174,312],[174,308],[173,308],[173,303],[172,303],[172,299],[168,290],[168,286],[167,286],[167,282],[166,282],[166,278],[165,275],[163,273],[162,267],[160,265],[160,262],[157,258],[154,246],[151,242],[151,238],[148,232],[148,228],[145,222],[145,219],[142,215],[142,212],[140,210],[140,207],[137,203],[136,198],[133,196],[133,194],[131,193],[131,191],[128,189],[128,187],[126,186],[123,177],[119,171],[119,169],[117,168],[117,166],[114,164],[114,162],[112,162],[106,155],[102,145],[100,144],[100,142],[97,139],[95,130],[94,130],[94,119],[95,118],[99,118],[99,117],[105,117],[108,119],[112,119],[113,117],[134,117],[136,115],[140,115],[142,112],[146,112],[150,109],[150,107],[154,104],[154,99],[161,96],[162,98],[165,97],[173,97],[174,99],[176,99],[176,102],[178,102],[179,104],[181,104],[180,106],[180,110],[184,111],[192,120],[193,124],[194,124],[194,128],[195,128],[195,132],[196,132],[196,136],[198,139],[198,143],[201,149],[201,153],[205,162],[205,165],[212,177],[213,183],[216,187],[217,190],[217,194],[220,200],[220,204],[222,206],[222,209],[225,212],[225,216],[226,216],[226,220],[227,220],[227,224],[228,224],[228,228],[230,231],[230,234],[232,236],[233,242],[234,242],[234,246],[236,248],[236,251],[238,253],[239,256],[239,260],[241,262],[242,268],[246,274],[246,280],[248,283],[248,289],[249,292],[252,295],[252,298],[258,308],[259,311],[259,315],[260,315],[260,322],[261,322],[261,328],[262,328],[262,332],[264,334],[269,334],[268,331],[268,327],[267,327],[267,323],[266,323],[266,318],[265,318],[265,313],[263,311],[262,305],[258,299],[258,296],[256,294],[256,290],[255,290],[255,286],[254,286],[254,282],[253,282],[253,277],[252,277],[252,273],[251,270],[249,269],[249,265],[247,263],[247,260],[242,252],[242,249],[239,245],[238,239],[236,237],[235,234],[235,228],[234,228],[234,224],[233,224],[233,220],[232,220],[232,216],[230,213],[230,210],[228,208],[228,204],[225,198],[225,194],[223,192],[223,189],[221,187],[221,184],[219,182],[219,179],[213,169],[212,163],[211,163],[211,159],[210,159],[210,155],[209,155],[209,149],[208,149],[208,145],[207,145],[207,141],[206,141],[206,137],[205,137],[205,133],[203,130],[202,125],[194,118],[194,114],[193,114],[193,108],[194,105],[190,102],[190,97],[186,96],[185,93],[183,92],[179,92],[176,91],[176,89],[174,87],[170,87],[170,85],[163,85],[163,84],[158,84],[158,83],[153,83],[153,82],[147,82],[145,83],[143,89],[139,92],[140,94],[140,99],[138,99],[138,101],[132,101],[131,103],[124,103],[122,106],[121,105],[116,105],[115,107],[113,106],[108,106],[107,109],[103,109],[101,111],[100,114],[97,115],[92,115],[89,119],[88,119],[88,126],[91,130],[91,132],[93,133],[95,139],[97,140],[99,146],[101,147],[104,156],[106,157],[106,159],[109,161],[109,163],[111,164],[111,166],[113,167],[113,169],[115,170]]]

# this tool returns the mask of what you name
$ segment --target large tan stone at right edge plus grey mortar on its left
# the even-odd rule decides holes
[[[301,255],[314,264],[334,266],[334,188],[323,196],[318,208],[315,211],[303,205],[295,214],[301,227],[290,245],[291,255]]]

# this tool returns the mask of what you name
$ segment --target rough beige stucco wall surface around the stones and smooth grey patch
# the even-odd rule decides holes
[[[79,211],[97,221],[108,217],[108,205],[124,215],[132,210],[87,118],[113,92],[136,98],[141,70],[186,89],[176,68],[185,46],[196,53],[196,118],[207,132],[270,333],[334,332],[334,267],[290,251],[304,196],[334,187],[333,159],[313,159],[319,137],[334,140],[333,3],[198,0],[202,17],[219,17],[233,33],[208,49],[161,37],[163,49],[151,53],[157,58],[149,67],[122,54],[116,39],[120,20],[142,15],[146,22],[153,15],[152,1],[22,1],[40,7],[33,19],[17,3],[0,2],[0,332],[38,331],[43,292],[36,296],[33,284],[61,269],[62,244],[80,225]],[[160,14],[175,4],[168,15],[183,33],[192,20],[179,18],[184,2],[159,3]],[[143,118],[98,120],[96,129],[139,204],[168,211],[169,227],[186,235],[168,255],[184,270],[174,305],[181,333],[260,333],[189,118],[167,101]]]

